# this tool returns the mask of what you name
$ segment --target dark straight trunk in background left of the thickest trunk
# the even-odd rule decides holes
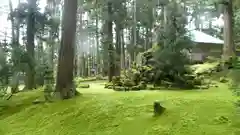
[[[27,53],[28,53],[28,67],[27,67],[27,84],[26,88],[31,90],[35,88],[35,60],[34,60],[34,36],[35,36],[35,9],[36,0],[29,0],[28,20],[27,20]]]

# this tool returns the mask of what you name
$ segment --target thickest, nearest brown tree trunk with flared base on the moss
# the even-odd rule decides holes
[[[64,0],[62,39],[58,58],[56,93],[61,99],[77,94],[73,82],[77,0]]]

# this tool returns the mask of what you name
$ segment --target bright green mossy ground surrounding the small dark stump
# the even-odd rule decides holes
[[[95,84],[74,99],[38,105],[31,101],[42,92],[23,92],[0,111],[0,134],[239,135],[235,99],[220,88],[113,92]],[[152,117],[155,100],[167,108],[159,117]]]

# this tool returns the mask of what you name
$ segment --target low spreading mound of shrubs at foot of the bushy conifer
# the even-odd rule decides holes
[[[128,88],[129,90],[136,91],[146,89],[149,83],[154,84],[155,87],[193,89],[202,85],[203,80],[203,75],[194,74],[187,67],[182,72],[178,72],[171,68],[158,70],[150,66],[134,65],[121,76],[113,77],[112,82],[107,83],[105,88],[117,91]]]

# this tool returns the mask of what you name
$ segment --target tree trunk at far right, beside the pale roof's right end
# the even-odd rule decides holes
[[[232,1],[224,5],[224,46],[223,46],[223,59],[227,60],[234,56],[235,48],[233,45],[233,8]]]

